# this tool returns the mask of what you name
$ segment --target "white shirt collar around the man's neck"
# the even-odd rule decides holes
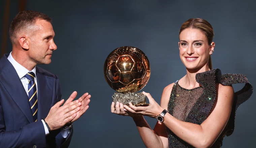
[[[20,79],[23,78],[28,72],[33,72],[36,75],[36,66],[31,71],[27,70],[25,67],[23,67],[22,65],[20,65],[17,61],[15,61],[13,59],[13,57],[11,56],[11,53],[9,54],[7,59],[10,61],[10,63],[16,70]]]

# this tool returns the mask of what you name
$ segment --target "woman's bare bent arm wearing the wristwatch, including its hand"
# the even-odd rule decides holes
[[[201,125],[180,121],[177,118],[171,116],[169,113],[165,114],[162,124],[164,123],[175,135],[177,135],[179,138],[194,147],[210,147],[211,145],[213,145],[213,143],[216,141],[216,139],[219,137],[224,127],[226,126],[232,109],[234,96],[232,86],[223,86],[221,84],[217,85],[219,88],[218,94],[216,95],[216,107]],[[150,96],[150,94],[145,93],[145,95],[149,98],[151,102],[154,102],[154,99]],[[165,95],[163,92],[162,97],[164,96]],[[164,98],[164,100],[166,100],[166,98]],[[130,105],[130,108],[125,106],[125,108],[129,112],[143,114],[155,118],[164,109],[155,106],[155,104],[154,109],[149,109],[149,107],[145,109],[145,107],[141,108],[135,107],[133,105]],[[156,127],[156,133],[161,133],[159,132],[161,130],[157,130]]]

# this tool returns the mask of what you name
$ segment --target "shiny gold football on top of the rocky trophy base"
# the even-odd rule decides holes
[[[149,81],[150,63],[140,49],[119,47],[107,56],[104,76],[108,85],[119,93],[136,92]]]

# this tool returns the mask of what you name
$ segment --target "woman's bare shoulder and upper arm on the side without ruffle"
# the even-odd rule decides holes
[[[167,106],[168,106],[168,102],[169,102],[169,98],[170,98],[170,95],[171,95],[171,90],[172,90],[173,85],[174,85],[174,83],[171,83],[171,84],[167,85],[167,86],[164,88],[164,90],[163,90],[160,106],[161,106],[162,108],[164,108],[164,109],[167,109]]]

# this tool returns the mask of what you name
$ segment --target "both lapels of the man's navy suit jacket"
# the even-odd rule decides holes
[[[27,117],[30,123],[33,122],[33,115],[30,109],[28,95],[24,86],[12,66],[7,59],[9,54],[5,54],[0,60],[0,83],[3,84],[6,91]],[[37,98],[38,98],[38,113],[37,120],[45,118],[51,109],[54,80],[52,77],[45,76],[44,72],[36,68],[37,79]]]

